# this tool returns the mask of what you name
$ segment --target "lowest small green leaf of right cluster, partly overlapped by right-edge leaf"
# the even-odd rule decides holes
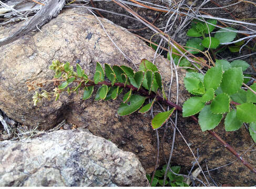
[[[236,131],[239,130],[243,122],[237,119],[237,111],[231,110],[224,121],[226,131]]]

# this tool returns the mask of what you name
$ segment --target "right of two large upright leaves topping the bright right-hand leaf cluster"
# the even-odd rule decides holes
[[[233,95],[242,86],[243,72],[242,68],[230,68],[225,71],[222,77],[220,87],[224,93]]]

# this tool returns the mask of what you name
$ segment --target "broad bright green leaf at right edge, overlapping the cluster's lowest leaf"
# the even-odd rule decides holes
[[[245,123],[256,122],[256,106],[253,103],[237,105],[237,118]]]

